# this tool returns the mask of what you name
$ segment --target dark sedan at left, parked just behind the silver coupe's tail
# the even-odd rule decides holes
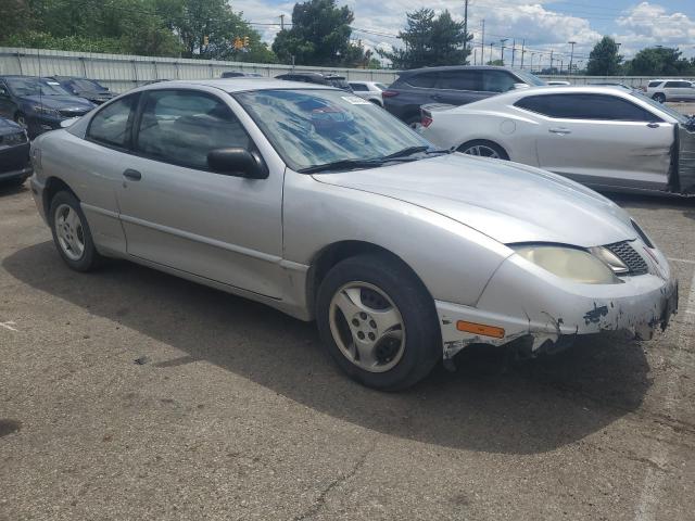
[[[58,81],[37,76],[0,76],[0,116],[26,128],[29,138],[61,127],[96,105],[71,94]]]

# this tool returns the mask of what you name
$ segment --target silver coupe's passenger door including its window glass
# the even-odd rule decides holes
[[[190,89],[143,92],[118,191],[127,252],[257,294],[279,297],[282,175],[207,168],[214,149],[253,150],[231,109]]]

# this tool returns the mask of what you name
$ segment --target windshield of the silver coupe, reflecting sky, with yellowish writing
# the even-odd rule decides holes
[[[293,170],[380,158],[429,141],[383,109],[338,90],[233,94]]]

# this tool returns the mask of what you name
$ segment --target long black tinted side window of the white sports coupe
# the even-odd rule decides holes
[[[644,109],[606,94],[548,94],[530,96],[516,106],[548,117],[565,119],[594,119],[612,122],[655,122],[657,116]]]

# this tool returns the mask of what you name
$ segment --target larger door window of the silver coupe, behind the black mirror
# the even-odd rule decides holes
[[[146,155],[205,169],[210,151],[250,145],[239,119],[212,96],[190,90],[155,90],[144,96],[135,144]]]

